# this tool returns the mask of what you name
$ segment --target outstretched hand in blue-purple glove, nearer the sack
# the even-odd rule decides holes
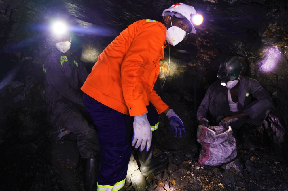
[[[177,137],[178,132],[180,135],[180,138],[182,137],[182,131],[184,132],[184,134],[186,135],[186,130],[184,128],[183,122],[181,121],[181,119],[178,117],[178,115],[176,115],[172,109],[170,109],[166,116],[168,117],[168,120],[170,122],[171,125],[171,130],[175,131],[175,137]]]

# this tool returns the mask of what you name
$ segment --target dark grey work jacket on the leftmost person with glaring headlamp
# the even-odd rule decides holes
[[[60,51],[50,53],[43,64],[47,114],[53,126],[64,125],[69,118],[69,110],[84,106],[79,86],[85,82],[88,74],[81,61],[72,54],[70,57],[72,67],[67,56]]]

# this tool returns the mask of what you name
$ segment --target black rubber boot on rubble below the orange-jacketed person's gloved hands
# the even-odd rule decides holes
[[[166,155],[161,155],[157,158],[154,157],[152,145],[148,152],[146,150],[140,152],[137,149],[137,154],[140,162],[140,171],[143,176],[154,174],[168,164],[168,157]]]

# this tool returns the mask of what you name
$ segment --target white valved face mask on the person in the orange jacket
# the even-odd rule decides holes
[[[172,26],[172,20],[170,19],[170,21]],[[175,46],[176,44],[181,42],[185,38],[185,36],[186,36],[185,30],[182,30],[177,26],[172,26],[167,30],[166,40],[169,44]]]

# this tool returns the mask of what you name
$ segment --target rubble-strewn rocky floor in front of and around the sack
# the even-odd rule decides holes
[[[200,166],[198,149],[169,154],[169,165],[158,175],[146,177],[149,191],[288,190],[287,162],[268,148],[248,151],[238,144],[236,159],[222,167]],[[157,151],[156,151],[157,153]],[[137,190],[133,184],[122,190]]]

